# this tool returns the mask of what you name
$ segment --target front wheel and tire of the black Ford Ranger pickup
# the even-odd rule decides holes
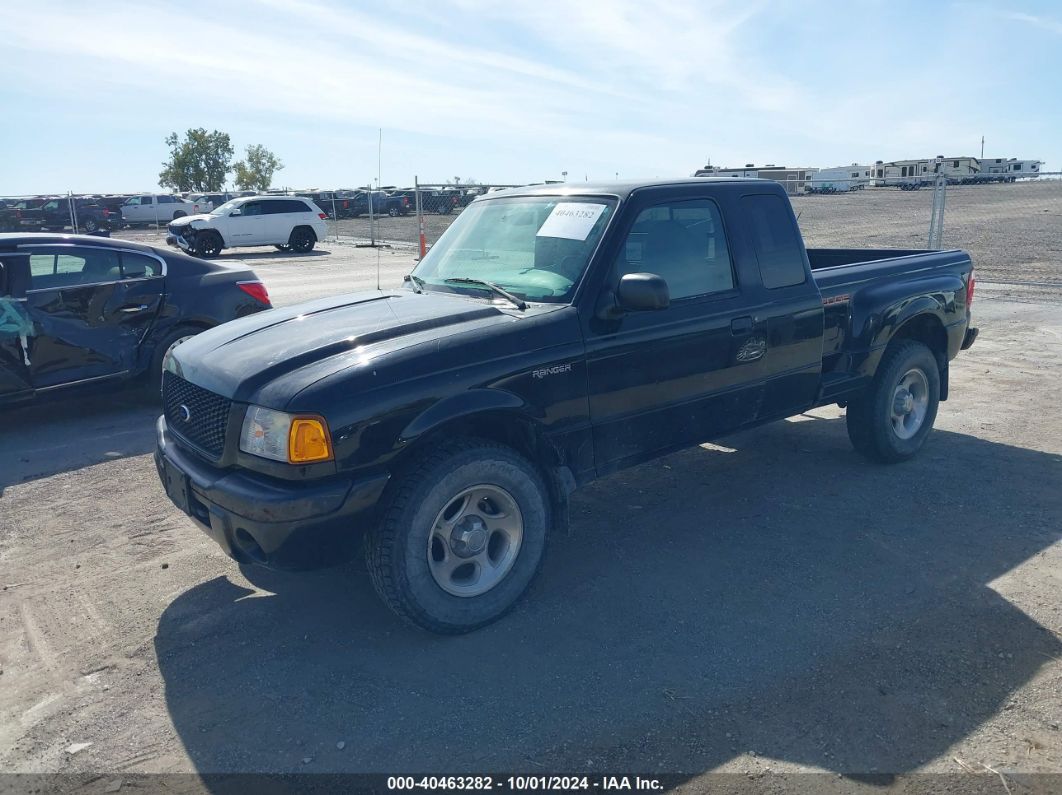
[[[384,604],[415,626],[459,635],[497,621],[542,565],[546,484],[503,445],[442,445],[396,476],[383,504],[365,535],[369,572]]]

